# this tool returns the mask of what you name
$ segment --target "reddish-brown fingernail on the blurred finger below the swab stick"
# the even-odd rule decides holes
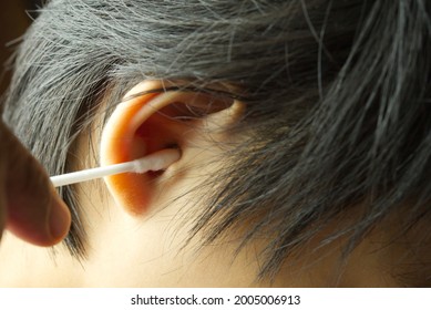
[[[69,232],[71,216],[63,200],[57,195],[54,197],[50,214],[50,229],[51,236],[60,241]]]

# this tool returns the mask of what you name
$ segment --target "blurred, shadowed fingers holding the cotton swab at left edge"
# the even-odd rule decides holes
[[[4,228],[38,246],[69,231],[71,216],[34,157],[0,120],[0,238]]]

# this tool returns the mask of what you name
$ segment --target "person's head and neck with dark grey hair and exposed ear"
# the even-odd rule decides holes
[[[71,232],[27,264],[55,286],[429,285],[430,11],[50,1],[4,112],[48,172],[182,156],[61,188]]]

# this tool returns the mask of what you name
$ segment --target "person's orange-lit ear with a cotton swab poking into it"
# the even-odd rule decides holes
[[[175,175],[189,154],[187,148],[198,144],[197,133],[208,126],[208,117],[217,115],[217,126],[223,127],[232,124],[234,115],[242,114],[239,103],[209,94],[184,90],[148,93],[164,86],[166,84],[156,81],[137,84],[115,107],[102,133],[102,165],[133,161],[165,148],[178,148],[182,154],[165,172],[105,177],[115,203],[131,215],[150,209],[161,186],[157,178],[164,173]],[[165,190],[168,190],[166,186]]]

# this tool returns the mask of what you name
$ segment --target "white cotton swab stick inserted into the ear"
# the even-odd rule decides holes
[[[179,149],[167,148],[132,162],[51,176],[51,182],[54,187],[59,187],[115,174],[156,172],[167,168],[171,164],[178,161],[179,156]]]

